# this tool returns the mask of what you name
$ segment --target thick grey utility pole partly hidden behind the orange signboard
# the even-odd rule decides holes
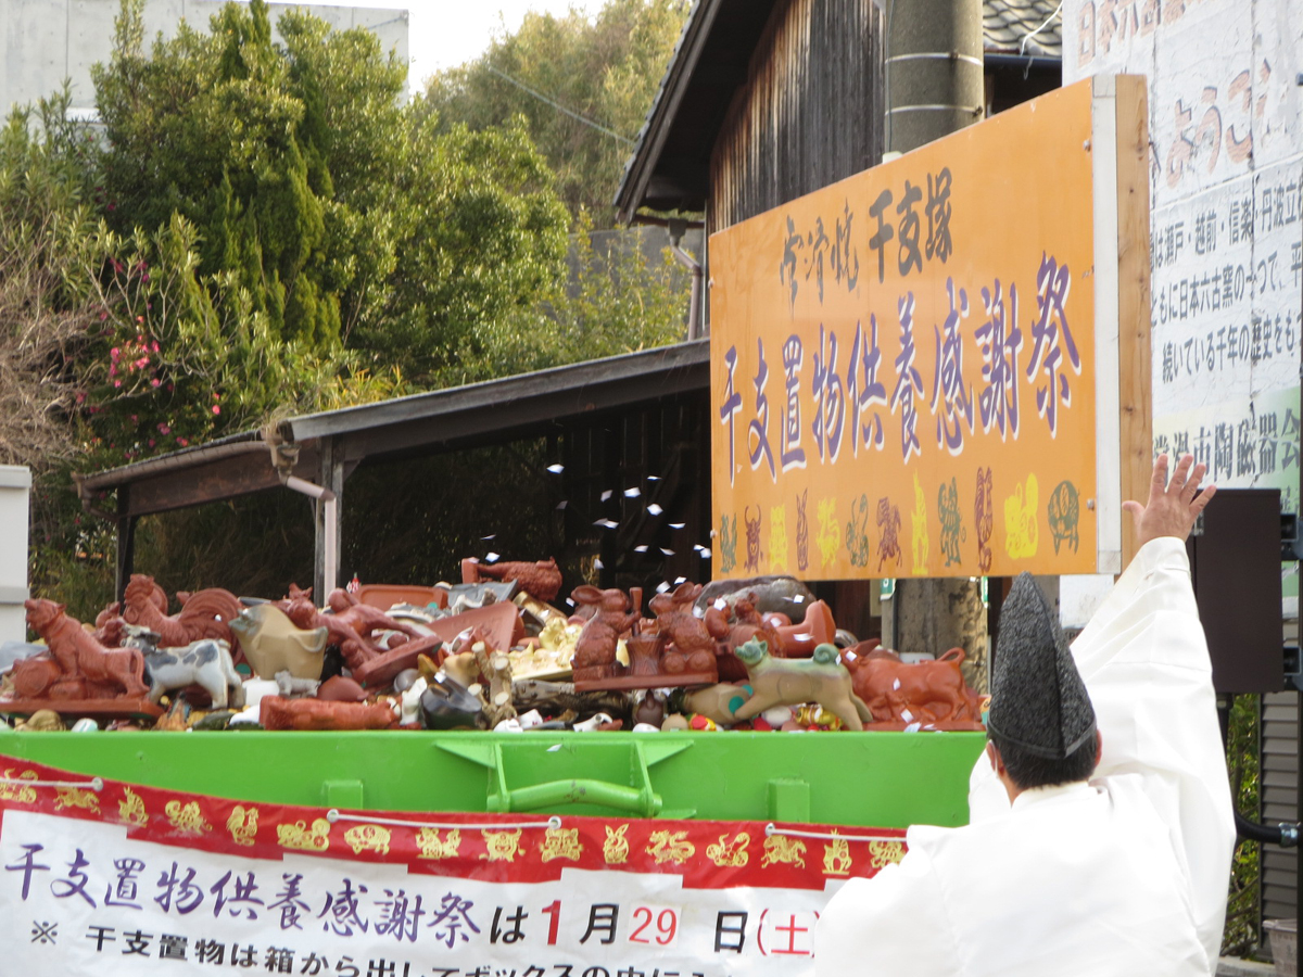
[[[981,0],[887,0],[886,31],[889,154],[908,152],[981,120]],[[882,624],[883,642],[898,651],[941,655],[964,649],[968,684],[986,690],[979,578],[900,578],[883,602]]]

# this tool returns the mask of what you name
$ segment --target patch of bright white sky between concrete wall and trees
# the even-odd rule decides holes
[[[322,3],[323,0],[317,0]],[[494,36],[520,27],[525,13],[563,16],[571,8],[592,16],[603,0],[328,0],[331,5],[407,8],[412,65],[408,89],[420,91],[434,72],[477,57]]]

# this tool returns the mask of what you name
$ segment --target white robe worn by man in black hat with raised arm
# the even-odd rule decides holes
[[[1141,547],[1072,645],[1104,753],[1010,806],[985,754],[971,823],[831,899],[816,977],[1184,977],[1217,965],[1235,827],[1179,539]]]

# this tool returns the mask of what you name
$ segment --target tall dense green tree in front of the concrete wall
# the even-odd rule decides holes
[[[400,165],[405,68],[357,29],[300,12],[271,39],[263,0],[182,23],[145,53],[142,0],[124,0],[94,70],[103,185],[121,233],[194,225],[201,275],[228,272],[272,336],[323,345],[367,314],[392,268],[383,189]],[[370,305],[374,306],[371,298]]]

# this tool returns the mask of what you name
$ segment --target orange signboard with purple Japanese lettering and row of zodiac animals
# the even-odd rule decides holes
[[[1095,103],[1083,82],[711,236],[715,576],[1108,568]]]

